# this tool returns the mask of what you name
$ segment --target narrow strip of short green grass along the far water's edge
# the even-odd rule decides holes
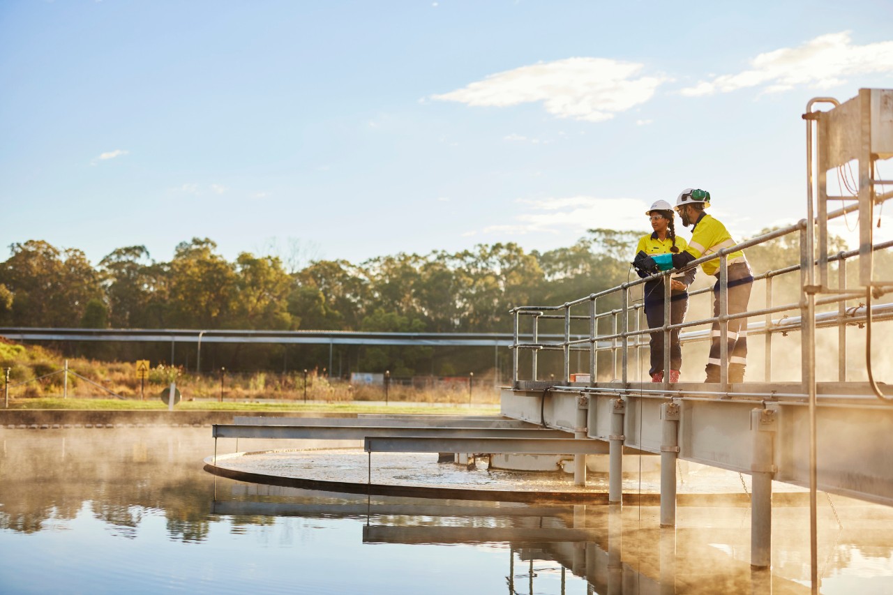
[[[134,401],[115,398],[28,398],[10,402],[10,409],[81,409],[102,411],[160,411],[167,409],[161,400]],[[182,401],[174,406],[176,411],[294,411],[318,413],[371,413],[371,414],[430,414],[430,415],[497,415],[498,405],[443,405],[419,406],[413,403],[392,402],[384,405],[367,405],[363,401],[338,403],[238,403],[219,401]]]

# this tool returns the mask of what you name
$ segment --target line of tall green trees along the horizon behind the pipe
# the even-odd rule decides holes
[[[29,240],[13,244],[11,256],[0,264],[0,325],[509,332],[513,306],[562,304],[635,278],[630,259],[641,233],[597,229],[570,247],[544,252],[526,252],[514,243],[480,244],[455,253],[378,256],[360,264],[316,260],[294,271],[279,256],[243,252],[230,262],[207,238],[181,242],[167,262],[155,261],[146,247],[130,246],[113,250],[96,266],[78,248]],[[764,252],[775,261],[779,252],[793,250],[780,246]],[[599,306],[613,305],[607,300]],[[79,355],[89,350],[79,349]],[[218,345],[211,357],[215,365],[275,369],[307,365],[313,356],[305,348],[289,362],[283,349]],[[104,355],[102,346],[95,350]],[[157,351],[163,361],[163,346]],[[361,351],[348,367],[441,372],[430,361],[430,348]],[[113,354],[145,356],[146,346],[115,348]]]

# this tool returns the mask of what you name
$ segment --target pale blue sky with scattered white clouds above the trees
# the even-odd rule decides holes
[[[543,251],[686,188],[742,239],[805,216],[806,102],[893,88],[893,2],[0,0],[0,88],[0,258]]]

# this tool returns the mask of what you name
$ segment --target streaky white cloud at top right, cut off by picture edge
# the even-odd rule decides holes
[[[845,82],[848,76],[893,73],[893,41],[855,46],[850,42],[849,31],[830,33],[802,46],[781,47],[759,54],[750,61],[750,66],[737,74],[699,81],[693,87],[683,88],[681,94],[713,95],[760,86],[764,86],[765,93],[778,93],[797,85],[830,88]]]

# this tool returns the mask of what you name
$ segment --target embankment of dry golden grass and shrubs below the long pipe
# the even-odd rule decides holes
[[[9,406],[26,409],[164,409],[161,391],[175,380],[183,400],[178,410],[318,411],[342,413],[437,413],[488,415],[498,410],[496,391],[479,387],[469,404],[467,386],[430,389],[391,385],[388,405],[380,386],[332,383],[317,373],[196,374],[156,365],[140,383],[134,362],[69,358],[67,398],[63,398],[65,359],[38,346],[0,339],[0,368],[10,369]],[[2,377],[0,377],[2,378]],[[0,380],[2,381],[2,380]],[[112,394],[113,393],[113,394]],[[3,399],[3,393],[0,393]],[[305,402],[305,400],[307,402]],[[375,403],[370,403],[375,401]],[[0,402],[0,406],[2,406]],[[432,406],[434,405],[434,406]]]

